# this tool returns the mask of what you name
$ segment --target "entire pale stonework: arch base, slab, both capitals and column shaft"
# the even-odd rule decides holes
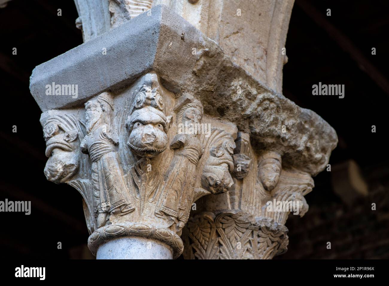
[[[89,2],[76,3],[80,11]],[[84,44],[30,79],[43,112],[44,172],[82,195],[91,252],[284,253],[287,216],[308,211],[312,176],[337,143],[326,121],[280,94],[293,1],[106,4],[82,10]],[[72,84],[77,96],[63,95],[61,85]]]

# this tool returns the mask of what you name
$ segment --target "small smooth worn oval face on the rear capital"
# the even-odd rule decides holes
[[[265,190],[271,191],[277,186],[280,174],[281,164],[275,158],[265,159],[259,164],[259,178]]]

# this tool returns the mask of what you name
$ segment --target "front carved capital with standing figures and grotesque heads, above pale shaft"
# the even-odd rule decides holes
[[[166,108],[155,73],[138,82],[119,110],[114,94],[106,91],[89,99],[83,113],[75,110],[78,117],[49,111],[54,115],[42,119],[49,157],[45,174],[82,193],[94,254],[107,239],[135,235],[165,242],[177,257],[193,202],[233,185],[235,143],[222,129],[212,129],[209,140],[182,132],[180,126],[202,124],[202,103],[183,94],[169,98]],[[74,180],[80,166],[82,181]]]

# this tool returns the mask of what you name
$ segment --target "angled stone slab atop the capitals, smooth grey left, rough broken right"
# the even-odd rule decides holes
[[[151,16],[141,14],[37,66],[30,90],[42,111],[82,104],[98,92],[123,88],[154,70],[170,91],[198,98],[206,114],[236,122],[240,130],[251,134],[258,149],[275,148],[286,164],[298,162],[296,167],[312,175],[326,166],[337,137],[321,117],[252,78],[212,40],[166,7],[151,11]],[[100,47],[107,47],[107,55]],[[44,93],[51,82],[78,84],[78,97],[53,100]]]

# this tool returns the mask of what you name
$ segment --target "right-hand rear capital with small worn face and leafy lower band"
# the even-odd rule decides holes
[[[184,228],[186,259],[272,259],[287,250],[285,226],[289,213],[308,211],[304,195],[314,182],[303,171],[282,167],[278,152],[254,152],[249,134],[239,132],[236,155],[252,158],[226,194],[198,202]],[[235,156],[235,155],[234,155]]]

